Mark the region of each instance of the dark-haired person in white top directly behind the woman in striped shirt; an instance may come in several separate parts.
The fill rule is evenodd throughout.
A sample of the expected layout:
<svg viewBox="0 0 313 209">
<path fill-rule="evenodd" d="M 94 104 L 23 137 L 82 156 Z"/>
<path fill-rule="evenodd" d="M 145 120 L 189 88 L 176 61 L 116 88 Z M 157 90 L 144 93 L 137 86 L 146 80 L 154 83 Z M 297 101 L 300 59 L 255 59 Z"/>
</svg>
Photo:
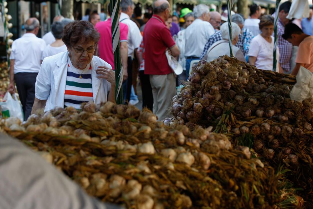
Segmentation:
<svg viewBox="0 0 313 209">
<path fill-rule="evenodd" d="M 51 32 L 55 38 L 55 41 L 52 44 L 48 44 L 44 49 L 41 60 L 44 58 L 56 55 L 60 52 L 67 51 L 66 45 L 62 41 L 62 34 L 64 29 L 64 23 L 62 22 L 54 22 L 51 26 Z"/>
</svg>

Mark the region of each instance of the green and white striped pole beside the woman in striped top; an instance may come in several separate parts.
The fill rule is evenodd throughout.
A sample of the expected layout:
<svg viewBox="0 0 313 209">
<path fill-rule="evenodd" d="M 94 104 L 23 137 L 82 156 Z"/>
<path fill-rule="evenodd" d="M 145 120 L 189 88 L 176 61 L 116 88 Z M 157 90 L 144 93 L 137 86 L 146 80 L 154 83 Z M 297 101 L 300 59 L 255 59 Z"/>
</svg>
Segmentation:
<svg viewBox="0 0 313 209">
<path fill-rule="evenodd" d="M 111 14 L 111 33 L 115 67 L 115 101 L 123 104 L 123 66 L 121 62 L 120 48 L 120 0 L 110 0 Z"/>
</svg>

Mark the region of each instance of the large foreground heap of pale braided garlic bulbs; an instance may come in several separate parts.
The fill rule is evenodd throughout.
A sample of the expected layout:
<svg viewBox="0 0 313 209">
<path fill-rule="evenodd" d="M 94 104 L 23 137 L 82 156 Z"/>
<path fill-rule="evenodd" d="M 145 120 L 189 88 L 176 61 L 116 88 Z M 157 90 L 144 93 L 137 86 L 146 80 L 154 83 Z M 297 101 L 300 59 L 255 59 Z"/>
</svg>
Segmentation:
<svg viewBox="0 0 313 209">
<path fill-rule="evenodd" d="M 301 206 L 274 169 L 212 127 L 156 122 L 150 111 L 107 102 L 1 120 L 90 195 L 126 208 Z M 293 160 L 290 156 L 290 162 Z"/>
</svg>

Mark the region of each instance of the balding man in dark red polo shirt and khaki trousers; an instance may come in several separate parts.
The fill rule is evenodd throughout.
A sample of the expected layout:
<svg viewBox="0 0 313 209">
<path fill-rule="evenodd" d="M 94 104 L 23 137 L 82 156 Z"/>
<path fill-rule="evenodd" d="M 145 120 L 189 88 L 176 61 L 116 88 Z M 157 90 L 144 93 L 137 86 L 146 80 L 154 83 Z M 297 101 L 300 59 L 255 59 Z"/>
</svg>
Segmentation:
<svg viewBox="0 0 313 209">
<path fill-rule="evenodd" d="M 145 74 L 150 75 L 153 113 L 159 121 L 167 117 L 172 98 L 176 95 L 175 74 L 168 65 L 165 55 L 165 52 L 169 50 L 174 57 L 179 56 L 179 49 L 165 24 L 171 16 L 169 7 L 167 0 L 154 2 L 154 14 L 143 31 Z"/>
</svg>

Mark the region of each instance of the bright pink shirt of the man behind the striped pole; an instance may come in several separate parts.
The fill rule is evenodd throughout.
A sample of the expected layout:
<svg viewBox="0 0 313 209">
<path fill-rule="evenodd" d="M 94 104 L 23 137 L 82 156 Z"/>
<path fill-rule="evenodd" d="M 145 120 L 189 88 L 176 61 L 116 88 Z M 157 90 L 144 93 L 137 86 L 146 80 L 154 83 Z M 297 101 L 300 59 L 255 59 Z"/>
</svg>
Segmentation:
<svg viewBox="0 0 313 209">
<path fill-rule="evenodd" d="M 111 18 L 96 24 L 95 29 L 100 33 L 98 43 L 99 56 L 109 63 L 114 70 L 114 55 L 112 46 Z M 127 41 L 128 26 L 120 22 L 120 41 Z"/>
</svg>

